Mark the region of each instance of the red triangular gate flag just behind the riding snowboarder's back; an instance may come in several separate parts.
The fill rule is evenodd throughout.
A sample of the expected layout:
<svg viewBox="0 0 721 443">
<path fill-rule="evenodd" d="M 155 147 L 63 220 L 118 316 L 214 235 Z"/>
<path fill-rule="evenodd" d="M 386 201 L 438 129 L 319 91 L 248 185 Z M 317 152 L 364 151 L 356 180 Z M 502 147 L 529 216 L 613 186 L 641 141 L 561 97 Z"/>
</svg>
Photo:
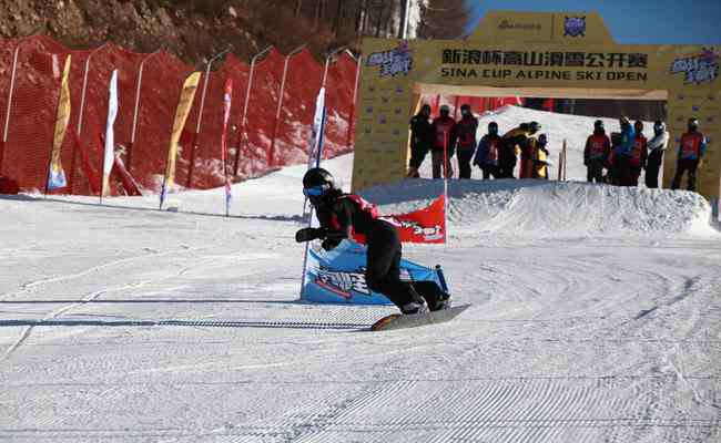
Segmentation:
<svg viewBox="0 0 721 443">
<path fill-rule="evenodd" d="M 446 243 L 446 196 L 444 194 L 423 209 L 380 218 L 396 226 L 402 243 Z M 354 234 L 353 237 L 358 243 L 365 243 L 364 235 Z"/>
</svg>

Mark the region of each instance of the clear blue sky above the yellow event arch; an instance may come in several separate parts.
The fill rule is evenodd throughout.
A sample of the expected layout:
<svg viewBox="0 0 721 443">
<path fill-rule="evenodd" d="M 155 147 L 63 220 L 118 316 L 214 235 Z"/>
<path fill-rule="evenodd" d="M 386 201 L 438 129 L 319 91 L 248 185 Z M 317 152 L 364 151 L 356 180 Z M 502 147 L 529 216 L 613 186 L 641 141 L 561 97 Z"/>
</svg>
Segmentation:
<svg viewBox="0 0 721 443">
<path fill-rule="evenodd" d="M 466 0 L 474 21 L 488 10 L 597 11 L 626 44 L 721 44 L 721 0 Z"/>
</svg>

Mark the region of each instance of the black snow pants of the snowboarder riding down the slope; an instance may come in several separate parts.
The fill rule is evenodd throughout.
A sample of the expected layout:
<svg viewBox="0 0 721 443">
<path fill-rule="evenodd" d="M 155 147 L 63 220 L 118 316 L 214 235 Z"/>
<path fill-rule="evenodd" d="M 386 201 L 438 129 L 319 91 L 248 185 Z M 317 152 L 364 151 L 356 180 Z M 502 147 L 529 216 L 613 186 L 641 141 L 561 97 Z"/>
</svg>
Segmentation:
<svg viewBox="0 0 721 443">
<path fill-rule="evenodd" d="M 376 220 L 366 236 L 368 246 L 366 285 L 386 296 L 398 308 L 424 298 L 433 309 L 443 291 L 434 281 L 400 280 L 400 238 L 396 228 L 385 220 Z"/>
</svg>

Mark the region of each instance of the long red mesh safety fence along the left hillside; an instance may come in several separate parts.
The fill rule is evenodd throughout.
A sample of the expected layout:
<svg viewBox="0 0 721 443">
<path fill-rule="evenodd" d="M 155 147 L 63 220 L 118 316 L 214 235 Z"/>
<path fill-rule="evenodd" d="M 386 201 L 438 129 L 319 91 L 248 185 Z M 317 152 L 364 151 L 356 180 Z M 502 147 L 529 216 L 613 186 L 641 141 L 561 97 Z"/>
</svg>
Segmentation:
<svg viewBox="0 0 721 443">
<path fill-rule="evenodd" d="M 224 183 L 221 131 L 223 86 L 229 78 L 233 80 L 229 172 L 244 179 L 307 159 L 315 99 L 325 71 L 307 50 L 291 56 L 271 50 L 255 64 L 248 89 L 251 66 L 233 55 L 206 71 L 207 64 L 189 66 L 164 52 L 140 54 L 111 43 L 71 51 L 35 35 L 0 41 L 0 176 L 16 179 L 23 190 L 44 188 L 68 55 L 72 55 L 72 112 L 61 151 L 69 181 L 63 193 L 99 193 L 108 83 L 115 69 L 120 103 L 115 152 L 144 190 L 160 190 L 181 86 L 195 70 L 203 74 L 181 136 L 179 185 L 210 188 Z M 327 66 L 327 157 L 353 150 L 348 122 L 355 112 L 357 66 L 347 52 Z M 122 194 L 119 177 L 111 178 L 112 194 Z"/>
</svg>

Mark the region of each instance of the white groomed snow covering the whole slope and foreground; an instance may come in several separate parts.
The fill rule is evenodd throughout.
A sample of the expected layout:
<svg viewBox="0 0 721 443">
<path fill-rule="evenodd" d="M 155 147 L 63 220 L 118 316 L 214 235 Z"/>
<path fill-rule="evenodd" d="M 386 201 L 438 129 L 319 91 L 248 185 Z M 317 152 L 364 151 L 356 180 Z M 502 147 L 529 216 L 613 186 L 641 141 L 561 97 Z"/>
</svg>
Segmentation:
<svg viewBox="0 0 721 443">
<path fill-rule="evenodd" d="M 352 163 L 324 166 L 349 184 Z M 0 197 L 1 440 L 721 439 L 721 235 L 698 195 L 454 181 L 449 243 L 404 255 L 474 306 L 370 333 L 393 308 L 297 301 L 304 169 L 235 185 L 231 218 L 222 188 L 173 195 L 179 213 Z M 392 213 L 441 189 L 364 195 Z"/>
</svg>

